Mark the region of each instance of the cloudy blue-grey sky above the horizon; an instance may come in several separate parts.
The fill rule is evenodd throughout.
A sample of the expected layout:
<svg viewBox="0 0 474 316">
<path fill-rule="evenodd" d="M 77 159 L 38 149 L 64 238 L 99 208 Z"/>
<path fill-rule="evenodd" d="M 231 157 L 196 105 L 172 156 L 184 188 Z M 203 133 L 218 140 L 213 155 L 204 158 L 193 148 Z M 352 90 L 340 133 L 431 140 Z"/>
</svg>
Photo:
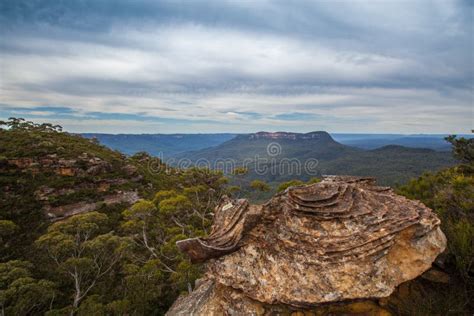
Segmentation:
<svg viewBox="0 0 474 316">
<path fill-rule="evenodd" d="M 474 1 L 0 2 L 0 118 L 469 133 Z"/>
</svg>

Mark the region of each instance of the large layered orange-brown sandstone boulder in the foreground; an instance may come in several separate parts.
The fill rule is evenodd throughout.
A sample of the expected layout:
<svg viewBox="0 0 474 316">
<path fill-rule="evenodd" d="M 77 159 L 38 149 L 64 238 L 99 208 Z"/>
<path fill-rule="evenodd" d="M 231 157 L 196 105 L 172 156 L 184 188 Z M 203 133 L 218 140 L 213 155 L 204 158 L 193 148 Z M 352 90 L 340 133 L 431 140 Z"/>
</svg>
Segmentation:
<svg viewBox="0 0 474 316">
<path fill-rule="evenodd" d="M 371 178 L 327 177 L 262 206 L 226 200 L 208 238 L 178 242 L 205 277 L 169 315 L 266 314 L 389 296 L 446 247 L 440 221 Z"/>
</svg>

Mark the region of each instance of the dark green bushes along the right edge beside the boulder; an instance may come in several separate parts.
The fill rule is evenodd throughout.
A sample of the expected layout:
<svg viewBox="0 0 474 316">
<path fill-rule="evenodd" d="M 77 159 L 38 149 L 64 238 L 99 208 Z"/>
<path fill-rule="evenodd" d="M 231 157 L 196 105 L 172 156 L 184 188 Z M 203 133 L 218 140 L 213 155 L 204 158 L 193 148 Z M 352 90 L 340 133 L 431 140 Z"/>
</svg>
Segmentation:
<svg viewBox="0 0 474 316">
<path fill-rule="evenodd" d="M 443 305 L 450 306 L 452 311 L 460 313 L 474 309 L 474 139 L 454 136 L 447 139 L 460 163 L 439 172 L 426 173 L 398 188 L 400 194 L 422 201 L 438 214 L 448 239 L 443 265 L 450 272 L 452 282 L 448 287 L 431 291 L 425 287 L 434 314 L 439 312 L 441 301 L 447 298 L 451 299 Z M 415 307 L 426 305 L 426 297 L 420 297 L 419 301 L 425 303 L 416 302 Z"/>
</svg>

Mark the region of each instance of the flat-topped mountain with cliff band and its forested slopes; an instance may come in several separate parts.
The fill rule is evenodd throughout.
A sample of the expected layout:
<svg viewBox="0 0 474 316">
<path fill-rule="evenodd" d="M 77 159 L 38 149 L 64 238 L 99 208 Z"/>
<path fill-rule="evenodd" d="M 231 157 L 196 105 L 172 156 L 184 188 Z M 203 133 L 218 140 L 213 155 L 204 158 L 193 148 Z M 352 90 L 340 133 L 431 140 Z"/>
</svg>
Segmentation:
<svg viewBox="0 0 474 316">
<path fill-rule="evenodd" d="M 388 145 L 364 150 L 335 141 L 326 132 L 238 135 L 218 146 L 177 155 L 203 166 L 228 171 L 230 164 L 249 169 L 249 180 L 278 183 L 323 174 L 374 176 L 380 184 L 403 183 L 425 171 L 454 163 L 448 151 Z M 299 171 L 297 170 L 299 164 Z"/>
</svg>

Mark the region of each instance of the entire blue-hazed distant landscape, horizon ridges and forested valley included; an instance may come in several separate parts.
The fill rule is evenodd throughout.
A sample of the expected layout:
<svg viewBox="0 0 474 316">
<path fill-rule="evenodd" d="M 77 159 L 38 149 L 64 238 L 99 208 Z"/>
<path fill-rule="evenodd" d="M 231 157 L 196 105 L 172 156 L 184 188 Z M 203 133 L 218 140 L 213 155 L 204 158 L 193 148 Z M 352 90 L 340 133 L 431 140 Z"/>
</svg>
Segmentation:
<svg viewBox="0 0 474 316">
<path fill-rule="evenodd" d="M 95 137 L 125 154 L 145 151 L 184 167 L 195 164 L 228 171 L 245 164 L 250 170 L 248 181 L 262 179 L 270 183 L 348 174 L 375 176 L 381 184 L 394 185 L 454 164 L 449 144 L 444 140 L 446 135 L 330 135 L 323 131 L 82 135 Z M 311 172 L 304 166 L 308 162 L 313 164 Z M 295 171 L 297 163 L 299 172 Z"/>
</svg>

